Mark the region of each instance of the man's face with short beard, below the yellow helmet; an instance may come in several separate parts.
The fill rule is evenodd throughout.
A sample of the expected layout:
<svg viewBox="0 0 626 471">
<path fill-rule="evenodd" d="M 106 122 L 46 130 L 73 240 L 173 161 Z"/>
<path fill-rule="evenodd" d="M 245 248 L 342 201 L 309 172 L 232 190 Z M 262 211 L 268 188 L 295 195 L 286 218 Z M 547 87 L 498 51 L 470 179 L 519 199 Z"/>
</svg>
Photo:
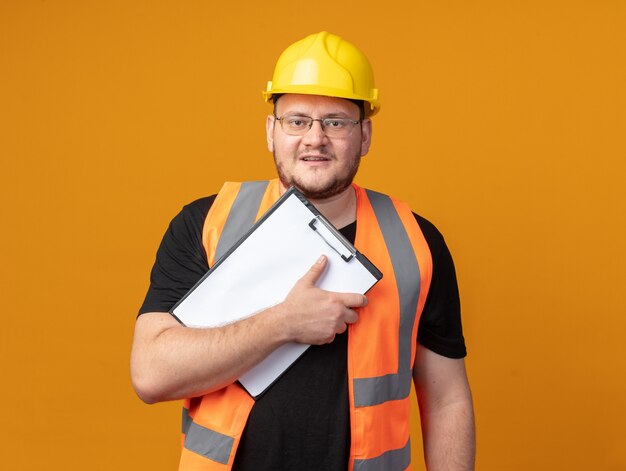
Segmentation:
<svg viewBox="0 0 626 471">
<path fill-rule="evenodd" d="M 300 115 L 312 118 L 359 119 L 359 107 L 342 98 L 318 95 L 280 97 L 276 116 Z M 329 138 L 321 123 L 303 136 L 283 132 L 274 116 L 267 117 L 267 145 L 274 154 L 278 177 L 284 189 L 295 186 L 307 198 L 327 199 L 346 191 L 359 168 L 361 157 L 367 154 L 372 135 L 369 119 L 363 120 L 345 138 Z"/>
</svg>

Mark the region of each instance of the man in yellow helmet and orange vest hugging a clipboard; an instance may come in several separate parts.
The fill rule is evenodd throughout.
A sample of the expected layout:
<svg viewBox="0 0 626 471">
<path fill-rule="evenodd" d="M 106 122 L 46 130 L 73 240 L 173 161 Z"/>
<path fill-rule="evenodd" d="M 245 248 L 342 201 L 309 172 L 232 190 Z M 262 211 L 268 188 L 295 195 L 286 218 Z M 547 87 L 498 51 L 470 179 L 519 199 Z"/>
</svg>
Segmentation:
<svg viewBox="0 0 626 471">
<path fill-rule="evenodd" d="M 281 55 L 265 98 L 279 178 L 225 185 L 172 221 L 136 323 L 138 395 L 185 399 L 182 470 L 387 471 L 410 466 L 413 381 L 428 469 L 473 469 L 458 289 L 443 237 L 403 203 L 352 184 L 379 109 L 369 62 L 338 36 L 308 36 Z M 292 185 L 383 279 L 367 296 L 322 291 L 321 257 L 277 306 L 220 328 L 181 326 L 168 311 L 214 263 L 229 216 L 244 204 L 262 214 Z M 236 379 L 286 342 L 312 346 L 253 400 Z"/>
</svg>

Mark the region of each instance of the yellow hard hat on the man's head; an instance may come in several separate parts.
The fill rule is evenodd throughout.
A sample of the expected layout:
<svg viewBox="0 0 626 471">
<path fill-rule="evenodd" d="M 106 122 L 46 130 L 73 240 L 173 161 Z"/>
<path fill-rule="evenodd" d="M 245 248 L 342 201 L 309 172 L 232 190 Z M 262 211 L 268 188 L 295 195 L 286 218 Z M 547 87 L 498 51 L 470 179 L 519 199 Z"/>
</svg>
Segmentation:
<svg viewBox="0 0 626 471">
<path fill-rule="evenodd" d="M 367 57 L 353 44 L 326 31 L 293 43 L 280 55 L 263 97 L 270 101 L 283 93 L 363 100 L 369 103 L 367 116 L 380 109 Z"/>
</svg>

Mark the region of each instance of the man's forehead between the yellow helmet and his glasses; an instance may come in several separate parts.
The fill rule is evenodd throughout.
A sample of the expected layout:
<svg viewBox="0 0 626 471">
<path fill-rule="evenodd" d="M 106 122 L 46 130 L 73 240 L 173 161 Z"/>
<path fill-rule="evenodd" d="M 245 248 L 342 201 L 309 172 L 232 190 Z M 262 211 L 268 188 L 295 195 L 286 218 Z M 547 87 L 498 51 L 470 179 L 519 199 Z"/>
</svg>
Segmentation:
<svg viewBox="0 0 626 471">
<path fill-rule="evenodd" d="M 301 113 L 307 116 L 345 114 L 358 119 L 359 107 L 344 98 L 321 95 L 286 94 L 276 102 L 276 114 Z"/>
</svg>

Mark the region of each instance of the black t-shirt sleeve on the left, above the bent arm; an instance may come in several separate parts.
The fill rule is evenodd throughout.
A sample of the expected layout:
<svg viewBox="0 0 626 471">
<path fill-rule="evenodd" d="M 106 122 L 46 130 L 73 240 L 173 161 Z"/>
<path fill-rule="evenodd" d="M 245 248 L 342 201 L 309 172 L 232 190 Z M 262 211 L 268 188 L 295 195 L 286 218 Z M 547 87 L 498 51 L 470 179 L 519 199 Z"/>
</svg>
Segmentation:
<svg viewBox="0 0 626 471">
<path fill-rule="evenodd" d="M 214 200 L 215 195 L 188 204 L 170 223 L 157 251 L 140 315 L 169 312 L 208 271 L 202 227 Z"/>
</svg>

